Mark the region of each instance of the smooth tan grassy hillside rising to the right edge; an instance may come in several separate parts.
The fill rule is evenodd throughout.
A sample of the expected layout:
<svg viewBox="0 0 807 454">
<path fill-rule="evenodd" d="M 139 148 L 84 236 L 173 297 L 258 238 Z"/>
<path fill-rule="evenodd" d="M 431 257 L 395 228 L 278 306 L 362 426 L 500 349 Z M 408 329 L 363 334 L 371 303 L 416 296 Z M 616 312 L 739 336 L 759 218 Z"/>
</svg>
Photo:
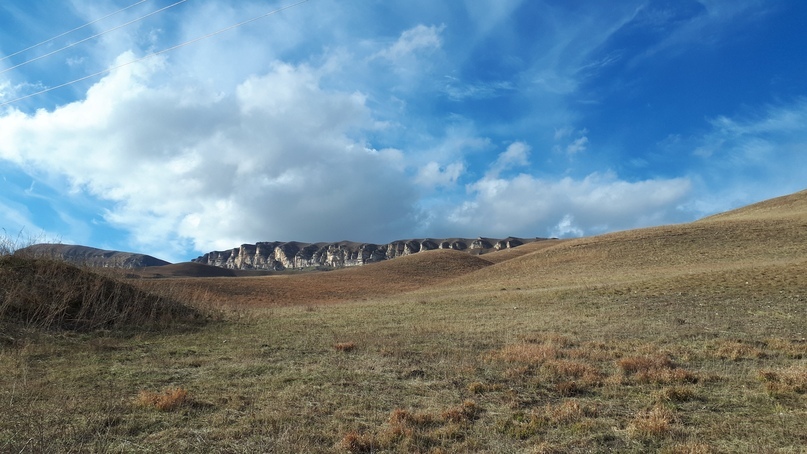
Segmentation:
<svg viewBox="0 0 807 454">
<path fill-rule="evenodd" d="M 803 191 L 693 223 L 541 244 L 546 247 L 479 271 L 469 279 L 472 282 L 456 285 L 641 286 L 660 278 L 794 265 L 807 260 L 805 222 Z"/>
</svg>

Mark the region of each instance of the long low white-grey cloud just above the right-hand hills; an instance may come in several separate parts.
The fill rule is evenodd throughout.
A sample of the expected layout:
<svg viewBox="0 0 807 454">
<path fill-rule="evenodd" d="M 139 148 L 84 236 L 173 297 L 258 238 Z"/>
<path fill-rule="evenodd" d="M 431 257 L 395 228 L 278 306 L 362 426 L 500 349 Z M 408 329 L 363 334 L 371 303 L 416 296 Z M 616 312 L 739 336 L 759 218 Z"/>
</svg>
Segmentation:
<svg viewBox="0 0 807 454">
<path fill-rule="evenodd" d="M 468 186 L 472 199 L 450 212 L 446 231 L 491 236 L 580 236 L 687 219 L 686 178 L 628 182 L 613 173 L 583 179 L 485 177 Z M 481 233 L 480 233 L 481 232 Z"/>
</svg>

